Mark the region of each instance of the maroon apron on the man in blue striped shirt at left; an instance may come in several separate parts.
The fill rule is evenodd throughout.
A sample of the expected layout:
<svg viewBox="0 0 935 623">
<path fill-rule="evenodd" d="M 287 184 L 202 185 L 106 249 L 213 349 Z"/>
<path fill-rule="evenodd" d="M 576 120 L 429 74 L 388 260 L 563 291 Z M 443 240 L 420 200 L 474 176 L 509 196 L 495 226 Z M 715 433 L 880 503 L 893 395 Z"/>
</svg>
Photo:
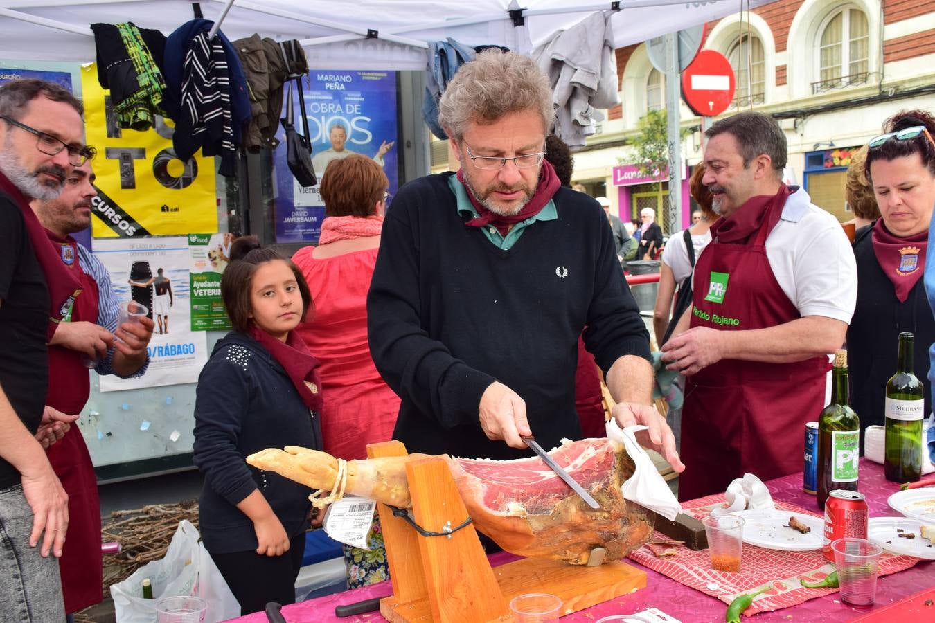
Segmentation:
<svg viewBox="0 0 935 623">
<path fill-rule="evenodd" d="M 84 289 L 75 299 L 71 320 L 96 322 L 97 284 L 79 268 L 78 244 L 49 234 L 62 261 L 76 271 Z M 69 250 L 70 249 L 70 250 Z M 88 402 L 91 379 L 81 364 L 82 353 L 65 347 L 49 347 L 49 393 L 46 404 L 67 414 L 80 413 Z M 76 421 L 65 437 L 49 448 L 49 461 L 68 494 L 68 534 L 59 570 L 65 596 L 65 612 L 75 613 L 101 602 L 101 506 L 97 480 L 88 446 Z"/>
</svg>

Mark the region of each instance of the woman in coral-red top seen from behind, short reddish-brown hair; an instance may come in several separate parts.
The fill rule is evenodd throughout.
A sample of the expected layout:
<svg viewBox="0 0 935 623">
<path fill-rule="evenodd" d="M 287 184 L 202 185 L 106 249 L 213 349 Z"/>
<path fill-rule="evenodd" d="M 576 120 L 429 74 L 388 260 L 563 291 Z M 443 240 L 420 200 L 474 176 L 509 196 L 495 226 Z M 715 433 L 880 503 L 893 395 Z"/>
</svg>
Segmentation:
<svg viewBox="0 0 935 623">
<path fill-rule="evenodd" d="M 388 186 L 370 158 L 332 161 L 322 177 L 319 245 L 293 256 L 315 300 L 315 317 L 297 332 L 322 362 L 324 451 L 344 460 L 367 459 L 367 444 L 389 441 L 399 412 L 399 397 L 383 382 L 367 344 L 367 290 Z M 367 545 L 369 550 L 344 546 L 349 588 L 387 579 L 379 526 L 367 535 Z"/>
</svg>

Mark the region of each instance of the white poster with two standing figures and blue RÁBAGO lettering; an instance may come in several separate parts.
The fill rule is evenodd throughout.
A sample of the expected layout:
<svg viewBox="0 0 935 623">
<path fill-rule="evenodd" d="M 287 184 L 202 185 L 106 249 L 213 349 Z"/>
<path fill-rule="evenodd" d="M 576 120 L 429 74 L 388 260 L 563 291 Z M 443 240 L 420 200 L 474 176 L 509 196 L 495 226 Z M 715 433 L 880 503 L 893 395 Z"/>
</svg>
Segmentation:
<svg viewBox="0 0 935 623">
<path fill-rule="evenodd" d="M 208 339 L 193 332 L 189 293 L 188 238 L 129 238 L 94 241 L 121 305 L 144 304 L 156 323 L 150 367 L 139 378 L 101 376 L 101 391 L 194 383 L 208 361 Z"/>
</svg>

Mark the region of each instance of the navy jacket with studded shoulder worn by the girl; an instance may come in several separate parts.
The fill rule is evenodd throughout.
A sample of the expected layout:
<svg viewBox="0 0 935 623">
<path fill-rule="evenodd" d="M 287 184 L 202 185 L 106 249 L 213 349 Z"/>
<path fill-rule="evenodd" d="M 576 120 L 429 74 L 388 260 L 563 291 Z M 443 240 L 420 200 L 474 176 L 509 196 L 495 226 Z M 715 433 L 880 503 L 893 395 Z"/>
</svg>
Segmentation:
<svg viewBox="0 0 935 623">
<path fill-rule="evenodd" d="M 266 348 L 243 333 L 228 333 L 198 377 L 194 404 L 194 464 L 205 474 L 198 520 L 209 552 L 256 549 L 253 523 L 237 503 L 257 488 L 290 539 L 309 528 L 311 490 L 244 460 L 283 446 L 321 449 L 319 419 Z"/>
</svg>

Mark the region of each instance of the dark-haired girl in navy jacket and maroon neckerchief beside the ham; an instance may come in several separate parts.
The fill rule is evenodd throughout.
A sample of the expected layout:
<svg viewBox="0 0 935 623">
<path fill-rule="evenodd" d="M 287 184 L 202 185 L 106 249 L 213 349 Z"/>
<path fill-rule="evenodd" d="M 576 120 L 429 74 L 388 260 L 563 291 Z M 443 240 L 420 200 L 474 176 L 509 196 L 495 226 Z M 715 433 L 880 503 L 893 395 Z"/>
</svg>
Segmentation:
<svg viewBox="0 0 935 623">
<path fill-rule="evenodd" d="M 234 331 L 198 378 L 194 463 L 205 474 L 202 540 L 247 615 L 295 602 L 311 491 L 244 459 L 266 447 L 320 449 L 321 384 L 293 332 L 312 309 L 302 272 L 255 238 L 235 241 L 231 258 L 221 294 Z"/>
</svg>

